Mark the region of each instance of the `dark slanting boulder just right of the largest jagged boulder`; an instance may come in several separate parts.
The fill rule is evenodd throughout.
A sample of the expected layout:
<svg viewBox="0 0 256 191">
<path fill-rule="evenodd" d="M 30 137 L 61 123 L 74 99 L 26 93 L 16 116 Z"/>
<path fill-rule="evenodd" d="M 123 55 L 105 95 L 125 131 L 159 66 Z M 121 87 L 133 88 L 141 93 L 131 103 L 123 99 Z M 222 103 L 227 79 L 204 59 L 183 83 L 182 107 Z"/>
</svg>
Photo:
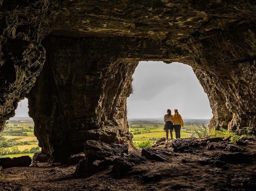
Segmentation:
<svg viewBox="0 0 256 191">
<path fill-rule="evenodd" d="M 117 158 L 114 161 L 114 166 L 112 168 L 112 173 L 115 177 L 120 178 L 124 176 L 127 172 L 132 170 L 132 167 L 136 164 L 145 162 L 146 158 L 139 156 L 138 154 L 124 155 Z"/>
</svg>

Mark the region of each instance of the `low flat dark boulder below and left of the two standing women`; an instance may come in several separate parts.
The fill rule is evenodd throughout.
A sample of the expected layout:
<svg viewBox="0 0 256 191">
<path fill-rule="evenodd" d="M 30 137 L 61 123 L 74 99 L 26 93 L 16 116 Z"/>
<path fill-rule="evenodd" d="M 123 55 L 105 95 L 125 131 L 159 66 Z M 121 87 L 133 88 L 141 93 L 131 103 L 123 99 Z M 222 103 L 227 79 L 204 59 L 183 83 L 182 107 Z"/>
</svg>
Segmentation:
<svg viewBox="0 0 256 191">
<path fill-rule="evenodd" d="M 170 161 L 172 152 L 166 149 L 145 148 L 142 149 L 141 156 L 144 156 L 145 158 L 150 160 Z"/>
</svg>

